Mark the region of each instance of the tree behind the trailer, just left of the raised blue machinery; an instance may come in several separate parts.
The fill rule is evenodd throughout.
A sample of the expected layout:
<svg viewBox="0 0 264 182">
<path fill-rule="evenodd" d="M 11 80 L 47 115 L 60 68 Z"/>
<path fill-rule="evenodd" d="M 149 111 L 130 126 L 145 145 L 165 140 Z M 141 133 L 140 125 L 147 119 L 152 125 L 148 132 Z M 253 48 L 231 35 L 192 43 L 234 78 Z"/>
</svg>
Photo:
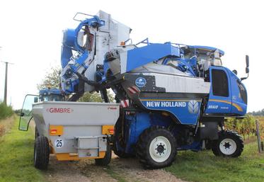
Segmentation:
<svg viewBox="0 0 264 182">
<path fill-rule="evenodd" d="M 59 67 L 52 67 L 49 72 L 46 73 L 45 79 L 37 85 L 38 90 L 50 88 L 59 88 L 60 78 L 59 75 L 61 69 Z"/>
</svg>

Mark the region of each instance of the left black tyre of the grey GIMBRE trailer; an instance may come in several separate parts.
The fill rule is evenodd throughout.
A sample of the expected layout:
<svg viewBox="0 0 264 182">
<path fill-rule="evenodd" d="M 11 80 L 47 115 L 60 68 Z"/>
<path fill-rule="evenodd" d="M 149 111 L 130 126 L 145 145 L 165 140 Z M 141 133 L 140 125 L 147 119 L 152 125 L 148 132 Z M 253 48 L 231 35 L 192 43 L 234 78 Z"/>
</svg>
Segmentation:
<svg viewBox="0 0 264 182">
<path fill-rule="evenodd" d="M 47 137 L 39 136 L 35 139 L 34 166 L 37 169 L 47 169 L 50 159 L 50 145 Z"/>
</svg>

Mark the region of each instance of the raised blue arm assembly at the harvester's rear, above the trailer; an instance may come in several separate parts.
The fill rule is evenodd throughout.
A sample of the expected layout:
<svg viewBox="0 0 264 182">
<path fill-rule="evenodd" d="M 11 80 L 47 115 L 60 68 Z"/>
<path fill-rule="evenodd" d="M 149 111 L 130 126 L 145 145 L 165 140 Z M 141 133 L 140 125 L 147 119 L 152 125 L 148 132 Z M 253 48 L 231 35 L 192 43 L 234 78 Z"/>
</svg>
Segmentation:
<svg viewBox="0 0 264 182">
<path fill-rule="evenodd" d="M 96 35 L 90 29 L 96 29 L 105 24 L 98 16 L 84 13 L 76 13 L 76 16 L 78 14 L 89 16 L 89 18 L 80 21 L 76 29 L 65 30 L 62 41 L 62 90 L 66 93 L 76 92 L 80 79 L 84 79 L 83 74 L 88 68 L 88 62 L 93 59 L 93 42 Z M 79 21 L 76 16 L 74 20 Z"/>
</svg>

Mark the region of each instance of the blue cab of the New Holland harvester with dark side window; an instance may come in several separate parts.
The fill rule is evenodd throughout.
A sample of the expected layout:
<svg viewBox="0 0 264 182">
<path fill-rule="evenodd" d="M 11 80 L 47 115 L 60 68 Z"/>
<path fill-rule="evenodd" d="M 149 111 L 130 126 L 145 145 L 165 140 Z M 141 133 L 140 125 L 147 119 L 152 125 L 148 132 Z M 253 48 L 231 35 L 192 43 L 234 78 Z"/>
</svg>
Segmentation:
<svg viewBox="0 0 264 182">
<path fill-rule="evenodd" d="M 209 72 L 211 89 L 205 115 L 245 115 L 247 93 L 241 79 L 226 67 L 213 66 Z"/>
</svg>

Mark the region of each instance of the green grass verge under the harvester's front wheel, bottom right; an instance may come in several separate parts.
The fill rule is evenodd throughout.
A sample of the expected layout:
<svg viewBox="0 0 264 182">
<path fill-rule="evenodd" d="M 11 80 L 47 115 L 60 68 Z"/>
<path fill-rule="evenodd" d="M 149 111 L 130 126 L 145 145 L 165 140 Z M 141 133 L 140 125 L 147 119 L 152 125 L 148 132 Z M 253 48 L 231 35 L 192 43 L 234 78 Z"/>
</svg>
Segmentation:
<svg viewBox="0 0 264 182">
<path fill-rule="evenodd" d="M 166 171 L 186 181 L 251 181 L 264 179 L 264 154 L 256 142 L 246 144 L 239 158 L 215 157 L 211 151 L 178 152 Z"/>
</svg>

